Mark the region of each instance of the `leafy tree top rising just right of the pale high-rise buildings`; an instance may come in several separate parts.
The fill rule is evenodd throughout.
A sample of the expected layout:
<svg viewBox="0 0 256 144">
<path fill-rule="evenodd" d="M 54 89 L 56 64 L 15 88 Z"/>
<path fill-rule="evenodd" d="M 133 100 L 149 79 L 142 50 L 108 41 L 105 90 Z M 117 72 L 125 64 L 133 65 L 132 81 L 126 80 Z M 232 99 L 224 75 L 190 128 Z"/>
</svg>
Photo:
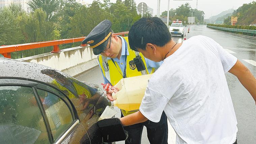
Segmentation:
<svg viewBox="0 0 256 144">
<path fill-rule="evenodd" d="M 60 0 L 31 0 L 28 2 L 28 5 L 33 11 L 42 8 L 46 12 L 47 21 L 49 21 L 58 9 Z"/>
</svg>

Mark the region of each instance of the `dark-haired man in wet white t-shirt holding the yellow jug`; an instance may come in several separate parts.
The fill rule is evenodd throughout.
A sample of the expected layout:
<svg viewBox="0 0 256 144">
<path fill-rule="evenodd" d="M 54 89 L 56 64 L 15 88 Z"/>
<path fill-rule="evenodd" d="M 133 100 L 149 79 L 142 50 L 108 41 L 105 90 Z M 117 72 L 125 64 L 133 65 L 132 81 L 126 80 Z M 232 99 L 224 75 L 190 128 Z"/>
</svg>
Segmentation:
<svg viewBox="0 0 256 144">
<path fill-rule="evenodd" d="M 177 144 L 233 144 L 237 121 L 225 73 L 235 75 L 256 100 L 256 79 L 213 39 L 198 35 L 177 44 L 159 18 L 142 18 L 129 32 L 131 49 L 155 62 L 140 111 L 121 118 L 123 125 L 158 122 L 163 111 Z"/>
</svg>

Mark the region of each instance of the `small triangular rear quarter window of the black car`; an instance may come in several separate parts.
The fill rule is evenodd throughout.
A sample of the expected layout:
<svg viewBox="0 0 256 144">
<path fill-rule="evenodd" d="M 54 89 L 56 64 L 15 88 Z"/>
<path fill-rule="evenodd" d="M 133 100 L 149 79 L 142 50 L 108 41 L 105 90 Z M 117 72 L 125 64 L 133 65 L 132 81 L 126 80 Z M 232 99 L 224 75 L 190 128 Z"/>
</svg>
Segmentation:
<svg viewBox="0 0 256 144">
<path fill-rule="evenodd" d="M 37 89 L 41 102 L 44 106 L 54 140 L 73 122 L 71 112 L 67 105 L 58 96 Z"/>
</svg>

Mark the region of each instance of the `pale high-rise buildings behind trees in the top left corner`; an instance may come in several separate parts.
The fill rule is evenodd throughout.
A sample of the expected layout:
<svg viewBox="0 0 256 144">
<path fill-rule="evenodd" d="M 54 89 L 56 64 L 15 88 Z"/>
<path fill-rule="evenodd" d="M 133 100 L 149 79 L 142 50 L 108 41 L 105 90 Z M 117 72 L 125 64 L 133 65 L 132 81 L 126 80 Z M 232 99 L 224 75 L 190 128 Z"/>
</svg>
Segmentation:
<svg viewBox="0 0 256 144">
<path fill-rule="evenodd" d="M 8 7 L 10 4 L 17 4 L 21 5 L 21 8 L 26 11 L 30 12 L 30 8 L 28 6 L 29 0 L 0 0 L 0 8 Z"/>
</svg>

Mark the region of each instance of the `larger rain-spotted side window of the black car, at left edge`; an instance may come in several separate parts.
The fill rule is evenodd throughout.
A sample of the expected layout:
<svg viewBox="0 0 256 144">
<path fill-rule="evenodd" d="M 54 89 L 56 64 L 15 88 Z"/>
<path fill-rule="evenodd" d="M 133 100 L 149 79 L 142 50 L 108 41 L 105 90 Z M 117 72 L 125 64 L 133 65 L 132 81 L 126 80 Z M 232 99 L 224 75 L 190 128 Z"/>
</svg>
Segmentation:
<svg viewBox="0 0 256 144">
<path fill-rule="evenodd" d="M 31 87 L 0 86 L 0 143 L 50 143 Z"/>
</svg>

